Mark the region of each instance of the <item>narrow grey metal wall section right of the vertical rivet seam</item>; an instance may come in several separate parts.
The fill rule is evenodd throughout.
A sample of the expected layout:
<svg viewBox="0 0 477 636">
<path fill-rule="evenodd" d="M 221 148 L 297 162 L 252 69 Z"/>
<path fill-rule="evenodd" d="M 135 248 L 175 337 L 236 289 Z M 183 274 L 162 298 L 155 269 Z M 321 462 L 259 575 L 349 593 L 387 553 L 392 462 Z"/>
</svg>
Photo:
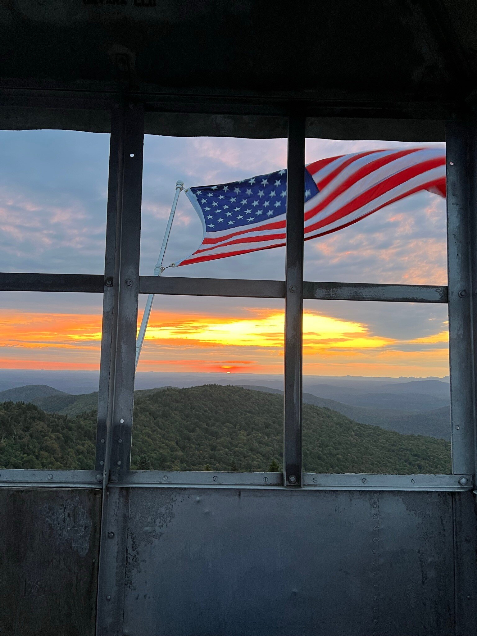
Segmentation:
<svg viewBox="0 0 477 636">
<path fill-rule="evenodd" d="M 443 492 L 376 497 L 379 636 L 454 633 L 452 497 Z"/>
</svg>

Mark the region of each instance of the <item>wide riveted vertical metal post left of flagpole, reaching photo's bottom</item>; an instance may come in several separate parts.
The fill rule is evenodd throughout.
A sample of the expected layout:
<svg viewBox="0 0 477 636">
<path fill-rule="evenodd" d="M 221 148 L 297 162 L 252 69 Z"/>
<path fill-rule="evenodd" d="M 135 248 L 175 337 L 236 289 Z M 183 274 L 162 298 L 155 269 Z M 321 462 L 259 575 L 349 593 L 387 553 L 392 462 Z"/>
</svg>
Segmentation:
<svg viewBox="0 0 477 636">
<path fill-rule="evenodd" d="M 144 107 L 113 111 L 109 165 L 106 283 L 99 391 L 99 456 L 104 480 L 99 555 L 97 635 L 122 633 L 128 489 L 109 488 L 130 464 L 139 294 Z M 107 340 L 109 338 L 109 340 Z M 105 439 L 105 450 L 101 450 Z"/>
</svg>

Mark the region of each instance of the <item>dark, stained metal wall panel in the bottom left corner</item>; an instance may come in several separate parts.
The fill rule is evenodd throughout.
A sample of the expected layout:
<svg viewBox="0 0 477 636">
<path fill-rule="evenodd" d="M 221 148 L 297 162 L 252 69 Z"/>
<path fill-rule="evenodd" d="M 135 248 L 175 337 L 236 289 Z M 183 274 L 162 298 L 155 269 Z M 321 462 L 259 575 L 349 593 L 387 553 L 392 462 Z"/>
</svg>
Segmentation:
<svg viewBox="0 0 477 636">
<path fill-rule="evenodd" d="M 93 636 L 101 492 L 0 488 L 0 634 Z"/>
</svg>

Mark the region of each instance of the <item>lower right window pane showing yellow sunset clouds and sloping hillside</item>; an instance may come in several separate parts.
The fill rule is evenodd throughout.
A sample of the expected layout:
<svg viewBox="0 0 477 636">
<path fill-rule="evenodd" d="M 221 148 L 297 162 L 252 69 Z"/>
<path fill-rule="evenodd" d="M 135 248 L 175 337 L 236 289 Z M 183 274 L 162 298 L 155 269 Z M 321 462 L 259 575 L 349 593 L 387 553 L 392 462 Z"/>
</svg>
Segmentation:
<svg viewBox="0 0 477 636">
<path fill-rule="evenodd" d="M 305 301 L 303 463 L 450 473 L 446 305 Z"/>
</svg>

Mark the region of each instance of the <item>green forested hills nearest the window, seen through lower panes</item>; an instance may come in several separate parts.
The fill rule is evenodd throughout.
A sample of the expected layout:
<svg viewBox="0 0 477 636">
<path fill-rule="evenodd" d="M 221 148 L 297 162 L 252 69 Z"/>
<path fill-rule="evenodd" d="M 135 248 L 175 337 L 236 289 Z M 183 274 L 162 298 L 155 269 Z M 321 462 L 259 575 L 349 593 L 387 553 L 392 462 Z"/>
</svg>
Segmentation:
<svg viewBox="0 0 477 636">
<path fill-rule="evenodd" d="M 282 417 L 282 397 L 241 387 L 145 392 L 135 402 L 132 467 L 277 469 Z M 95 423 L 95 411 L 70 418 L 33 404 L 1 403 L 0 468 L 92 468 Z M 304 404 L 303 460 L 312 472 L 448 473 L 450 445 Z"/>
</svg>

